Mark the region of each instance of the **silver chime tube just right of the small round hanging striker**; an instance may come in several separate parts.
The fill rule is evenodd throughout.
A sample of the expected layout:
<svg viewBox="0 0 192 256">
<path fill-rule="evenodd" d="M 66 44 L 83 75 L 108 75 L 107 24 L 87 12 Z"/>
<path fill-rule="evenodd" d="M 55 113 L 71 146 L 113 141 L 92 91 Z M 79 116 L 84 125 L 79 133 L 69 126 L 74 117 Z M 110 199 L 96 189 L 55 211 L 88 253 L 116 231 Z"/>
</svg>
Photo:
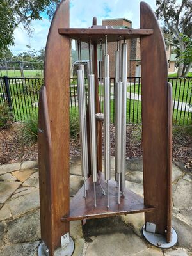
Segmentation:
<svg viewBox="0 0 192 256">
<path fill-rule="evenodd" d="M 107 197 L 109 208 L 109 180 L 111 179 L 111 156 L 110 156 L 110 78 L 109 78 L 109 55 L 107 50 L 107 36 L 104 56 L 104 166 L 105 179 L 107 180 Z"/>
</svg>

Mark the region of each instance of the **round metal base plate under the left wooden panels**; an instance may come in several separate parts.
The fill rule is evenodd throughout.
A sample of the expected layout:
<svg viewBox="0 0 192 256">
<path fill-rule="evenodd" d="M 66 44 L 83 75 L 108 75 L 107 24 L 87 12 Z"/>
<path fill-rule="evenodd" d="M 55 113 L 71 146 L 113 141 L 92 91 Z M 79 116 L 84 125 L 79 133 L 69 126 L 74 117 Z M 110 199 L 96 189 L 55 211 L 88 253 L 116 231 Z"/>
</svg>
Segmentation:
<svg viewBox="0 0 192 256">
<path fill-rule="evenodd" d="M 74 241 L 71 237 L 69 237 L 69 243 L 63 247 L 58 248 L 54 252 L 54 256 L 71 256 L 73 252 Z M 42 243 L 40 243 L 40 246 L 38 247 L 38 256 L 49 256 L 49 252 L 45 252 L 45 250 L 43 250 Z"/>
</svg>

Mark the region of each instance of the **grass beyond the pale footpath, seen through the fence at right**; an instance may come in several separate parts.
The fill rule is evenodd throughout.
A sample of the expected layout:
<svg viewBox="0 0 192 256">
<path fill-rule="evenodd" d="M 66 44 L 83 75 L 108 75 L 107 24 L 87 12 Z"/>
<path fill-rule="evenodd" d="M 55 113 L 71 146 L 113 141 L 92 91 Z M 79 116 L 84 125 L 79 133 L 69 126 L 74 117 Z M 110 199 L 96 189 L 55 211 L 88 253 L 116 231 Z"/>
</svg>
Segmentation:
<svg viewBox="0 0 192 256">
<path fill-rule="evenodd" d="M 172 83 L 173 86 L 173 100 L 187 103 L 192 101 L 192 77 L 191 79 L 169 78 L 168 81 Z M 141 94 L 141 84 L 131 84 L 127 86 L 127 92 Z"/>
</svg>

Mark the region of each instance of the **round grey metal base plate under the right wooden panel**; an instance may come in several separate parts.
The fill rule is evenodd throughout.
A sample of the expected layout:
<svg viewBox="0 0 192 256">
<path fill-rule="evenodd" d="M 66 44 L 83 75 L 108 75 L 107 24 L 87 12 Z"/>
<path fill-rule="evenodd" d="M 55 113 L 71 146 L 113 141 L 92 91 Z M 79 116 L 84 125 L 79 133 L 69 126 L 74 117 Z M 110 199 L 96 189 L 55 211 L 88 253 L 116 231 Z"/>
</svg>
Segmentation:
<svg viewBox="0 0 192 256">
<path fill-rule="evenodd" d="M 170 243 L 167 243 L 166 237 L 161 234 L 147 232 L 145 230 L 145 225 L 143 225 L 143 236 L 145 237 L 145 239 L 147 239 L 149 243 L 159 248 L 170 248 L 177 243 L 177 233 L 173 228 L 172 228 L 172 241 Z"/>
</svg>

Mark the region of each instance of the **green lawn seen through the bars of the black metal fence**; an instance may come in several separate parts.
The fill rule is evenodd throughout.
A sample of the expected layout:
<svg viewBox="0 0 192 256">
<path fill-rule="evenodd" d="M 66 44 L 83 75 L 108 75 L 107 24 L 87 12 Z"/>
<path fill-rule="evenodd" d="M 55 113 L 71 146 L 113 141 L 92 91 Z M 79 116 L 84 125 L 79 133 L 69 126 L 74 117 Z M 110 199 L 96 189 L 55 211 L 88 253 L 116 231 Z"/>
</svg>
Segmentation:
<svg viewBox="0 0 192 256">
<path fill-rule="evenodd" d="M 38 81 L 37 81 L 38 80 Z M 42 80 L 37 79 L 36 84 L 35 79 L 10 79 L 10 92 L 12 95 L 12 108 L 13 115 L 16 121 L 25 121 L 28 120 L 29 116 L 33 116 L 38 112 L 38 93 L 40 86 L 42 85 Z M 190 93 L 192 90 L 192 78 L 188 80 L 178 79 L 177 83 L 173 80 L 173 100 L 180 100 L 183 102 L 190 102 Z M 189 83 L 188 83 L 189 81 Z M 71 86 L 71 95 L 74 96 L 76 92 L 76 81 L 74 81 L 74 86 Z M 171 81 L 172 82 L 172 81 Z M 111 86 L 111 92 L 113 92 L 113 86 Z M 4 92 L 0 93 L 4 94 Z M 131 86 L 128 86 L 127 92 L 132 92 L 136 94 L 141 94 L 141 84 L 132 83 Z M 87 93 L 87 92 L 86 92 Z M 112 94 L 112 93 L 111 93 Z M 104 87 L 99 84 L 99 96 L 102 106 L 103 98 L 101 95 L 104 95 Z M 192 96 L 192 95 L 191 95 Z M 76 97 L 77 98 L 77 97 Z M 74 98 L 72 97 L 72 100 Z M 137 100 L 127 99 L 127 124 L 141 124 L 141 102 Z M 3 97 L 0 97 L 0 104 L 3 101 Z M 191 99 L 192 102 L 192 99 Z M 173 112 L 173 124 L 191 124 L 191 113 L 188 113 L 188 108 L 186 112 L 177 111 L 174 109 Z M 70 108 L 70 113 L 77 112 L 77 107 L 74 106 Z M 111 123 L 114 123 L 114 113 L 115 113 L 115 100 L 111 99 Z"/>
</svg>

